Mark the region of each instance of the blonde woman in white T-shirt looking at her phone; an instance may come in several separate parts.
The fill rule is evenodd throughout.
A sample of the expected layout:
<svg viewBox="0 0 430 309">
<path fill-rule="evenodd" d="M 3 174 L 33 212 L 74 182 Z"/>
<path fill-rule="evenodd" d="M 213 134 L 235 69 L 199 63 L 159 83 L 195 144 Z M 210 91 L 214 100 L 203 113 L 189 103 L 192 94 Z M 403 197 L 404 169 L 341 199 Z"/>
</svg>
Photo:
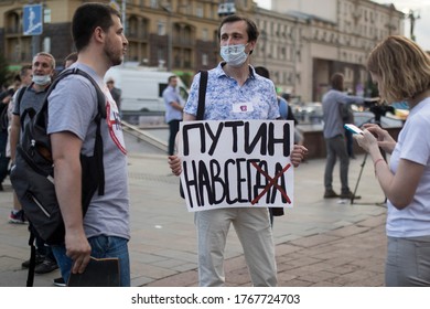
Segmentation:
<svg viewBox="0 0 430 309">
<path fill-rule="evenodd" d="M 410 107 L 397 142 L 375 125 L 355 135 L 388 199 L 386 286 L 430 286 L 430 58 L 393 35 L 372 51 L 367 68 L 383 99 Z M 379 147 L 391 153 L 389 164 Z"/>
</svg>

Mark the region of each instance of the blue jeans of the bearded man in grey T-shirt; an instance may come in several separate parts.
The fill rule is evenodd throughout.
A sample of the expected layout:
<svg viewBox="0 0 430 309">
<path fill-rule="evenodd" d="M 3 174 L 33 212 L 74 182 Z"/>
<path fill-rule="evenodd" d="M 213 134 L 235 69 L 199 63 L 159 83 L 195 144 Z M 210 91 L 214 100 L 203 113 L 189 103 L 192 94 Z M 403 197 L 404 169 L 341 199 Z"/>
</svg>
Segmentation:
<svg viewBox="0 0 430 309">
<path fill-rule="evenodd" d="M 119 276 L 121 287 L 130 286 L 130 258 L 128 254 L 128 239 L 115 236 L 95 236 L 88 238 L 92 246 L 92 256 L 95 258 L 118 257 Z M 66 256 L 65 245 L 52 246 L 52 251 L 58 263 L 64 281 L 68 281 L 73 260 Z"/>
</svg>

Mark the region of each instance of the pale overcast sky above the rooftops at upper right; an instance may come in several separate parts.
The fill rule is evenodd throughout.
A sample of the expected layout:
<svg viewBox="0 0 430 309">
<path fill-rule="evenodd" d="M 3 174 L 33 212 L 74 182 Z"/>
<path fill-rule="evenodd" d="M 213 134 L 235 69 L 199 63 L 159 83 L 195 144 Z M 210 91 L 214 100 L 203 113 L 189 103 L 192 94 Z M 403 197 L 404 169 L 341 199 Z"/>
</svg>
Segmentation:
<svg viewBox="0 0 430 309">
<path fill-rule="evenodd" d="M 270 9 L 270 0 L 254 0 L 260 7 Z M 396 9 L 409 14 L 409 10 L 415 11 L 415 36 L 417 43 L 421 45 L 426 51 L 430 51 L 430 0 L 373 0 L 378 3 L 394 3 Z M 405 21 L 405 34 L 410 36 L 410 22 L 409 19 Z"/>
</svg>

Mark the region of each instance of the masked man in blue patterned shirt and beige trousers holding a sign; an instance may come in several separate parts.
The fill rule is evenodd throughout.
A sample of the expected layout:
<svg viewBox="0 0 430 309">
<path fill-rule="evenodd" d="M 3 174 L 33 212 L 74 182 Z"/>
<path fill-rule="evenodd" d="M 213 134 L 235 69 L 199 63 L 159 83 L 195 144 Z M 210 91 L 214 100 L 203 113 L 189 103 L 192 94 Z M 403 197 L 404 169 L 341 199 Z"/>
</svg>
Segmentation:
<svg viewBox="0 0 430 309">
<path fill-rule="evenodd" d="M 246 120 L 279 118 L 273 83 L 255 74 L 254 67 L 249 65 L 249 55 L 256 47 L 259 34 L 256 24 L 247 18 L 229 15 L 222 21 L 218 34 L 224 62 L 208 72 L 204 120 L 237 120 L 235 125 L 237 127 L 233 130 L 237 132 L 246 128 Z M 196 120 L 200 77 L 201 74 L 197 74 L 191 86 L 190 97 L 184 108 L 183 126 L 186 121 Z M 289 130 L 288 126 L 287 124 L 286 131 Z M 270 125 L 267 128 L 269 127 Z M 208 136 L 212 141 L 223 131 L 221 126 L 218 129 L 211 129 L 209 124 L 201 127 L 200 131 L 202 132 L 204 128 L 211 131 Z M 289 141 L 288 143 L 290 145 Z M 290 147 L 287 149 L 290 150 Z M 293 146 L 289 156 L 292 166 L 299 166 L 307 151 L 303 146 Z M 170 156 L 169 163 L 175 175 L 182 173 L 182 161 L 179 156 Z M 243 245 L 254 286 L 277 286 L 275 244 L 269 212 L 267 206 L 251 207 L 252 204 L 211 207 L 195 212 L 200 286 L 225 284 L 224 249 L 232 223 Z"/>
</svg>

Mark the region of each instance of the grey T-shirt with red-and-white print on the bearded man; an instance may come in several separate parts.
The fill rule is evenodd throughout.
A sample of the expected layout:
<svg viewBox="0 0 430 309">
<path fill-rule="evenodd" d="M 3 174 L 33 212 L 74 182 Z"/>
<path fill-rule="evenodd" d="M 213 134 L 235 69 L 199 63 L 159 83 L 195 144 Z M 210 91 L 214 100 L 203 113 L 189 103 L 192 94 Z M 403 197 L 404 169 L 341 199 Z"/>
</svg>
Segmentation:
<svg viewBox="0 0 430 309">
<path fill-rule="evenodd" d="M 71 67 L 88 73 L 106 95 L 106 119 L 101 119 L 105 166 L 105 195 L 94 194 L 84 217 L 87 237 L 106 235 L 130 237 L 127 154 L 119 113 L 104 81 L 88 66 Z M 49 98 L 47 132 L 69 131 L 83 140 L 82 152 L 94 153 L 97 115 L 97 93 L 84 76 L 69 75 L 60 81 Z"/>
</svg>

